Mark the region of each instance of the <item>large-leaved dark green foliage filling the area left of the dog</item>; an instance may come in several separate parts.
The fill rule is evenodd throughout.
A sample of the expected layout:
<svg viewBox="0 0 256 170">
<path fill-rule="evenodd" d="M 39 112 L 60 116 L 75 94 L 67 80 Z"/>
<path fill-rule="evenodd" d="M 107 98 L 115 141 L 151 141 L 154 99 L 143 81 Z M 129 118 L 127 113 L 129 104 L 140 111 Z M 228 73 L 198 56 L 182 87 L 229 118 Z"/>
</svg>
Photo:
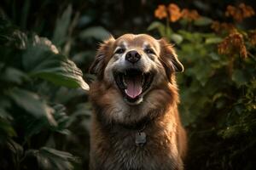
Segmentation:
<svg viewBox="0 0 256 170">
<path fill-rule="evenodd" d="M 55 85 L 84 94 L 82 71 L 47 38 L 20 31 L 3 16 L 0 23 L 1 169 L 73 169 L 79 160 L 57 147 L 55 136 L 70 138 L 76 115 L 55 101 Z"/>
</svg>

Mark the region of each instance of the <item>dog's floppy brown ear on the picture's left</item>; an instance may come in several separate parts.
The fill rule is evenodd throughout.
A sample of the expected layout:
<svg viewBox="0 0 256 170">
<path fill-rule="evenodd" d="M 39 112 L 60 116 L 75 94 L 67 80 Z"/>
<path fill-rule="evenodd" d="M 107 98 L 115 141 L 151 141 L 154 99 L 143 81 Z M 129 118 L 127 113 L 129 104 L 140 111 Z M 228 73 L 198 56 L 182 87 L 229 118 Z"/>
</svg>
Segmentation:
<svg viewBox="0 0 256 170">
<path fill-rule="evenodd" d="M 110 48 L 112 47 L 113 42 L 114 38 L 111 36 L 100 44 L 100 47 L 96 52 L 96 58 L 90 65 L 90 74 L 95 74 L 98 78 L 103 77 L 104 69 L 107 64 L 106 58 L 108 57 L 108 53 L 110 51 Z"/>
</svg>

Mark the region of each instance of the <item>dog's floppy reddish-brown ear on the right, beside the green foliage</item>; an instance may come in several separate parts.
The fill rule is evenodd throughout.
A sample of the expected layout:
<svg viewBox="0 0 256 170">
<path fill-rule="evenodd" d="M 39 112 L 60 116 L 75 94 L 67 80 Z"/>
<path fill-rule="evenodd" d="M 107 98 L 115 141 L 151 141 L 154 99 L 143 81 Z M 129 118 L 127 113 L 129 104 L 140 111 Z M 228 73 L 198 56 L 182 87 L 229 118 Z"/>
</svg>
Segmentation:
<svg viewBox="0 0 256 170">
<path fill-rule="evenodd" d="M 177 59 L 177 54 L 173 48 L 173 45 L 166 41 L 166 39 L 160 39 L 160 62 L 165 67 L 166 76 L 168 80 L 171 80 L 173 72 L 182 72 L 184 70 L 183 65 Z"/>
</svg>

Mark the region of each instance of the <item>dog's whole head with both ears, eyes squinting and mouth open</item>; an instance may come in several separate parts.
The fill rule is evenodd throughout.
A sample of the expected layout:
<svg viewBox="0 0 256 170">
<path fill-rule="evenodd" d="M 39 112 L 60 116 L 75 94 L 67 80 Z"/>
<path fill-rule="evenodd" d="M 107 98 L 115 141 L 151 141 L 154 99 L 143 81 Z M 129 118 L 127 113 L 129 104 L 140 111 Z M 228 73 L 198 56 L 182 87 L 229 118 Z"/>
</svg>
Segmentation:
<svg viewBox="0 0 256 170">
<path fill-rule="evenodd" d="M 162 82 L 172 83 L 174 71 L 183 71 L 183 65 L 172 45 L 145 34 L 109 38 L 90 68 L 98 79 L 116 88 L 127 105 L 141 104 Z"/>
</svg>

